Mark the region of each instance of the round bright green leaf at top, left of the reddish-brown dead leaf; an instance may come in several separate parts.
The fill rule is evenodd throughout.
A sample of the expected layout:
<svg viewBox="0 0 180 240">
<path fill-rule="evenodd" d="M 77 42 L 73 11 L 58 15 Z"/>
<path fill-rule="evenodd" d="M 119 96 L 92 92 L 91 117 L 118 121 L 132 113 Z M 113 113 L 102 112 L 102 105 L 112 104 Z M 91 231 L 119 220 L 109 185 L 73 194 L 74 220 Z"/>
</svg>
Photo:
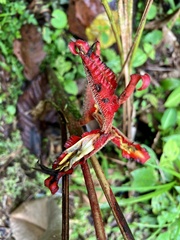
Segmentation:
<svg viewBox="0 0 180 240">
<path fill-rule="evenodd" d="M 60 10 L 56 9 L 52 13 L 51 24 L 54 28 L 65 28 L 67 25 L 67 16 L 66 14 Z"/>
</svg>

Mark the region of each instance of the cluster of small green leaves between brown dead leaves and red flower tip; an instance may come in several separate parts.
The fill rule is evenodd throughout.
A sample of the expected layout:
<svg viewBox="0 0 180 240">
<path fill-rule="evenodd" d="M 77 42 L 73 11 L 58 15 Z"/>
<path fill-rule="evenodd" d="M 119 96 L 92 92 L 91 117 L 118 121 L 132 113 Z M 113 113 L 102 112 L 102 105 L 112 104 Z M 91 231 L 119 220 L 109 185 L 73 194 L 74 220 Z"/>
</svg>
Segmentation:
<svg viewBox="0 0 180 240">
<path fill-rule="evenodd" d="M 48 55 L 44 64 L 50 65 L 50 67 L 55 70 L 58 80 L 67 93 L 77 95 L 78 88 L 74 79 L 79 75 L 84 77 L 84 71 L 80 64 L 79 67 L 81 69 L 78 68 L 78 65 L 76 66 L 79 60 L 69 53 L 67 43 L 70 39 L 67 36 L 65 41 L 62 37 L 67 29 L 67 16 L 65 12 L 55 9 L 52 12 L 51 25 L 52 26 L 45 25 L 42 29 L 43 40 L 45 41 L 45 51 Z"/>
</svg>

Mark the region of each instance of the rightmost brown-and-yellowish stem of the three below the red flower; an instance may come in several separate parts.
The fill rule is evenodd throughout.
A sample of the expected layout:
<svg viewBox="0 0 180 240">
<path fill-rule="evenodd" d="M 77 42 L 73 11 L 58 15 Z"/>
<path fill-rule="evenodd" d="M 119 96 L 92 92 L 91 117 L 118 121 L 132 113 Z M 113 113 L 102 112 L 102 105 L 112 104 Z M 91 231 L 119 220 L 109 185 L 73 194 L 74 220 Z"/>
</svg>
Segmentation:
<svg viewBox="0 0 180 240">
<path fill-rule="evenodd" d="M 125 240 L 134 240 L 134 237 L 131 233 L 131 230 L 130 230 L 130 228 L 129 228 L 129 226 L 128 226 L 125 218 L 124 218 L 124 215 L 123 215 L 123 213 L 122 213 L 122 211 L 121 211 L 121 209 L 120 209 L 120 207 L 119 207 L 119 205 L 116 201 L 116 198 L 115 198 L 115 196 L 114 196 L 114 194 L 113 194 L 113 192 L 112 192 L 112 190 L 109 186 L 109 183 L 104 176 L 104 173 L 101 169 L 101 166 L 99 165 L 99 162 L 98 162 L 98 160 L 95 156 L 91 157 L 91 164 L 94 168 L 94 171 L 97 175 L 99 183 L 100 183 L 100 185 L 103 189 L 103 192 L 106 196 L 106 199 L 107 199 L 107 201 L 108 201 L 108 203 L 109 203 L 109 205 L 112 209 L 112 212 L 114 214 L 114 217 L 116 219 L 116 222 L 117 222 L 117 224 L 118 224 L 118 226 L 121 230 L 121 233 L 122 233 L 124 239 Z"/>
</svg>

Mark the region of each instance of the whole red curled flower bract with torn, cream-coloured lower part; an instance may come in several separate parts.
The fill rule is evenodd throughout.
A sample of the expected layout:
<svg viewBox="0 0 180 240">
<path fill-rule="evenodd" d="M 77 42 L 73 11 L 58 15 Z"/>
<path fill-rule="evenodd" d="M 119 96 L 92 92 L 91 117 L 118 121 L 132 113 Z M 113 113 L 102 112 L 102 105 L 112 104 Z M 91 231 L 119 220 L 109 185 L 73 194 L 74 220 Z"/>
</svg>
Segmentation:
<svg viewBox="0 0 180 240">
<path fill-rule="evenodd" d="M 45 185 L 54 194 L 58 190 L 58 180 L 65 174 L 71 174 L 77 164 L 81 164 L 99 151 L 108 141 L 112 141 L 122 150 L 122 156 L 145 163 L 150 157 L 139 144 L 132 143 L 117 128 L 112 126 L 115 112 L 133 93 L 139 80 L 147 88 L 150 84 L 148 74 L 133 74 L 128 86 L 120 97 L 115 94 L 116 76 L 100 59 L 100 43 L 91 47 L 87 42 L 77 40 L 70 42 L 70 51 L 82 59 L 87 76 L 87 89 L 84 100 L 84 113 L 80 120 L 82 125 L 92 119 L 99 123 L 99 129 L 84 133 L 81 137 L 71 136 L 65 144 L 66 150 L 54 161 L 52 174 L 45 180 Z"/>
</svg>

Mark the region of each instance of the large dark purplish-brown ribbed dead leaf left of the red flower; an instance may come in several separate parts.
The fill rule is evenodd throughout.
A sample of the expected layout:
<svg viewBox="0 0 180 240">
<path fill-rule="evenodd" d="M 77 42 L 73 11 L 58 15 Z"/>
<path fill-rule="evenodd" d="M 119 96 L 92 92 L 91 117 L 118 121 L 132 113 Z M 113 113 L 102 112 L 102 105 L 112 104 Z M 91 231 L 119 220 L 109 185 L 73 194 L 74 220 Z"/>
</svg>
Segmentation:
<svg viewBox="0 0 180 240">
<path fill-rule="evenodd" d="M 41 74 L 31 81 L 17 103 L 18 127 L 23 143 L 37 157 L 42 152 L 47 154 L 50 141 L 56 142 L 60 137 L 57 112 L 48 102 L 50 94 L 47 77 Z M 48 141 L 43 142 L 44 138 Z"/>
</svg>

